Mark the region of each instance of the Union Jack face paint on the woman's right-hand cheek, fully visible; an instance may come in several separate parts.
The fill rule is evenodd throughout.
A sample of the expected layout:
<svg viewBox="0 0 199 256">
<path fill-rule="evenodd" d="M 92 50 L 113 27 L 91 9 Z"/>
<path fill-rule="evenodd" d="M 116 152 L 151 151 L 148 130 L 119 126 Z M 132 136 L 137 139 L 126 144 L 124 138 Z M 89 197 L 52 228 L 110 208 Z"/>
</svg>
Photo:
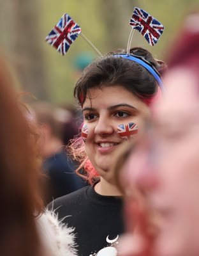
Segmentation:
<svg viewBox="0 0 199 256">
<path fill-rule="evenodd" d="M 131 141 L 138 134 L 138 125 L 135 123 L 120 124 L 116 131 L 122 139 Z"/>
</svg>

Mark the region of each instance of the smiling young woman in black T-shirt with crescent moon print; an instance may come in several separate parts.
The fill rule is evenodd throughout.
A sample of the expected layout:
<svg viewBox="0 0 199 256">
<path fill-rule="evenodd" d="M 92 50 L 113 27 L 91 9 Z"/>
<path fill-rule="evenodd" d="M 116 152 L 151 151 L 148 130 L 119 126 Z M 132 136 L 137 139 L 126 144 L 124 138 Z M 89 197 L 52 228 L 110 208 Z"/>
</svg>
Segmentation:
<svg viewBox="0 0 199 256">
<path fill-rule="evenodd" d="M 131 49 L 130 56 L 112 52 L 89 65 L 75 86 L 88 133 L 85 143 L 79 138 L 70 148 L 92 186 L 58 198 L 50 207 L 75 227 L 79 256 L 117 255 L 114 245 L 124 231 L 121 192 L 110 172 L 124 141 L 117 127 L 133 122 L 142 135 L 163 67 L 142 48 Z"/>
</svg>

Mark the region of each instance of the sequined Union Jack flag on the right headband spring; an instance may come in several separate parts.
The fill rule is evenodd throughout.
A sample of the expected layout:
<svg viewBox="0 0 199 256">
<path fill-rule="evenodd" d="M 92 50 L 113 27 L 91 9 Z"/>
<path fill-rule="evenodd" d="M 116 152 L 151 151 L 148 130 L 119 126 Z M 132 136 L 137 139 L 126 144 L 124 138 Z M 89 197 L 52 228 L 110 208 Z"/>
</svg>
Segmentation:
<svg viewBox="0 0 199 256">
<path fill-rule="evenodd" d="M 152 46 L 158 42 L 159 36 L 161 36 L 165 29 L 158 20 L 137 7 L 133 10 L 129 24 L 138 30 Z"/>
</svg>

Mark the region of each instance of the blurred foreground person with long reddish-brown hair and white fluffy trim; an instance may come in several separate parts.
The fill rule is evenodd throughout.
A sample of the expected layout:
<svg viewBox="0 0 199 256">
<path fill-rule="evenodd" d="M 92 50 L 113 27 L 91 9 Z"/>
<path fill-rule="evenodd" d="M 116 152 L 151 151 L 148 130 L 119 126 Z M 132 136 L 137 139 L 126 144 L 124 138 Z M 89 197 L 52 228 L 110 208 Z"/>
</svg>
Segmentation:
<svg viewBox="0 0 199 256">
<path fill-rule="evenodd" d="M 31 115 L 17 100 L 0 61 L 0 252 L 3 256 L 75 256 L 72 228 L 43 211 L 41 161 Z"/>
</svg>

